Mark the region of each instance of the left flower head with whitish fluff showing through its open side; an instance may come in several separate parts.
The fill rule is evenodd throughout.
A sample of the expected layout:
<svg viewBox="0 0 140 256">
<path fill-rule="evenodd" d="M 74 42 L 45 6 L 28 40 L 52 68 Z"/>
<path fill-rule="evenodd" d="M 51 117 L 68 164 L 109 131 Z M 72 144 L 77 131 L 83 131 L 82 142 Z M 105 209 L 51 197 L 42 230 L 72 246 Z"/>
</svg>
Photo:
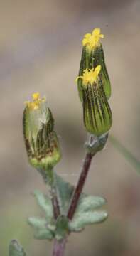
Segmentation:
<svg viewBox="0 0 140 256">
<path fill-rule="evenodd" d="M 28 160 L 37 169 L 52 169 L 60 160 L 58 137 L 53 130 L 54 119 L 46 106 L 45 97 L 33 94 L 32 102 L 25 102 L 23 136 Z"/>
</svg>

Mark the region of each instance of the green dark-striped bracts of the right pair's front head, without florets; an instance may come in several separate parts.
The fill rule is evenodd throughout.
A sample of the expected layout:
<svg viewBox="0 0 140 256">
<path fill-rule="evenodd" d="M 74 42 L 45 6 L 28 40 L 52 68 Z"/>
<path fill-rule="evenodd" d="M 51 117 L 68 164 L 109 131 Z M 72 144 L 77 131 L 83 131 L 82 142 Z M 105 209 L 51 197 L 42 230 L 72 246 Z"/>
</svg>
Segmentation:
<svg viewBox="0 0 140 256">
<path fill-rule="evenodd" d="M 112 127 L 112 111 L 99 79 L 93 85 L 82 86 L 83 119 L 87 132 L 100 136 Z"/>
</svg>

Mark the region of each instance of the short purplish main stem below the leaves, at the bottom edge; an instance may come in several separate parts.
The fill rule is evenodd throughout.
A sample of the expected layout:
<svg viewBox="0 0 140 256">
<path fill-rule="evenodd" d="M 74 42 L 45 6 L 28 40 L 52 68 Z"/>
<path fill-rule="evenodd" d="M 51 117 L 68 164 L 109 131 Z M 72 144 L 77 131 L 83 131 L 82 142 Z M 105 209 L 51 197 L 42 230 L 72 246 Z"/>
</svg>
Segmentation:
<svg viewBox="0 0 140 256">
<path fill-rule="evenodd" d="M 63 256 L 65 250 L 66 239 L 58 241 L 55 239 L 53 245 L 53 256 Z"/>
</svg>

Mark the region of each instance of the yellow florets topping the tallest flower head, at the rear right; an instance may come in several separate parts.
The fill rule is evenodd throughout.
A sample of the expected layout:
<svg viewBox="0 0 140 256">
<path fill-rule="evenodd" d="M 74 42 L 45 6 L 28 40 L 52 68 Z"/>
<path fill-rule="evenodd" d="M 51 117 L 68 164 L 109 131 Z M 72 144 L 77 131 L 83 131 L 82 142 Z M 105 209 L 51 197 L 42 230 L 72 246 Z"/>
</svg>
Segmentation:
<svg viewBox="0 0 140 256">
<path fill-rule="evenodd" d="M 90 50 L 99 46 L 100 38 L 104 38 L 104 35 L 100 33 L 100 28 L 95 28 L 92 33 L 85 34 L 82 40 L 82 46 L 87 46 Z"/>
</svg>

